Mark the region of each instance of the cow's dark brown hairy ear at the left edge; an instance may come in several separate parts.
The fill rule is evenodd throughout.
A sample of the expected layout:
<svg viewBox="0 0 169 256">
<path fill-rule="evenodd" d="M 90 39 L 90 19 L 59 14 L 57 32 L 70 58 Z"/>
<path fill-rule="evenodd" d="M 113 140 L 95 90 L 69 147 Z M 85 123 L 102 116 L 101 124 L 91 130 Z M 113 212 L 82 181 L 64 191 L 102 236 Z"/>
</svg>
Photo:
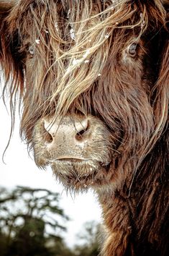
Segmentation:
<svg viewBox="0 0 169 256">
<path fill-rule="evenodd" d="M 14 1 L 0 1 L 0 64 L 4 73 L 5 85 L 10 81 L 10 92 L 23 87 L 23 68 L 19 58 L 19 35 L 10 28 Z"/>
</svg>

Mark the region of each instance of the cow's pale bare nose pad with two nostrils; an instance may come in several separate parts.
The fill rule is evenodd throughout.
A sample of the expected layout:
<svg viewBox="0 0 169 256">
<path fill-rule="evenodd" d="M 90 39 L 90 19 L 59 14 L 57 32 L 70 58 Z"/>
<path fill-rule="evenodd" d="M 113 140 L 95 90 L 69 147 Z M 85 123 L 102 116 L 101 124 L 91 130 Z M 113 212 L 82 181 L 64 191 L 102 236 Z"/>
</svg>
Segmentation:
<svg viewBox="0 0 169 256">
<path fill-rule="evenodd" d="M 44 119 L 45 142 L 48 146 L 80 145 L 88 135 L 88 119 L 85 116 L 65 116 L 62 119 L 53 121 Z"/>
</svg>

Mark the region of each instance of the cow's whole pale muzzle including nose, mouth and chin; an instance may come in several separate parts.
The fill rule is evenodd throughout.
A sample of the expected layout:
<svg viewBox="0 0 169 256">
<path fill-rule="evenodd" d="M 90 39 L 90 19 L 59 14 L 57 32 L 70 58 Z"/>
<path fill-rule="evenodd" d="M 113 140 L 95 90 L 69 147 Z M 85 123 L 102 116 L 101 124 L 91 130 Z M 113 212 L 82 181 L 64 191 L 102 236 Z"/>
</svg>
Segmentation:
<svg viewBox="0 0 169 256">
<path fill-rule="evenodd" d="M 70 187 L 88 187 L 101 179 L 111 161 L 109 130 L 95 116 L 45 117 L 33 132 L 37 166 L 50 165 Z"/>
</svg>

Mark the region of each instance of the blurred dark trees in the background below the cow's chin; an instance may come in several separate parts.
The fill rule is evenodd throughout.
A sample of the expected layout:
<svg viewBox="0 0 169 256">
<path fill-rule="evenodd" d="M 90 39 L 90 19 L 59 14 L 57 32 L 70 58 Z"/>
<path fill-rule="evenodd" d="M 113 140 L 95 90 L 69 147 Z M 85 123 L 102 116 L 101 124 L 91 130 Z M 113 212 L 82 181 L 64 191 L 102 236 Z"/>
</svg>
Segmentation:
<svg viewBox="0 0 169 256">
<path fill-rule="evenodd" d="M 69 217 L 59 206 L 58 193 L 47 189 L 0 188 L 1 256 L 99 255 L 98 223 L 86 223 L 70 249 L 63 239 Z"/>
</svg>

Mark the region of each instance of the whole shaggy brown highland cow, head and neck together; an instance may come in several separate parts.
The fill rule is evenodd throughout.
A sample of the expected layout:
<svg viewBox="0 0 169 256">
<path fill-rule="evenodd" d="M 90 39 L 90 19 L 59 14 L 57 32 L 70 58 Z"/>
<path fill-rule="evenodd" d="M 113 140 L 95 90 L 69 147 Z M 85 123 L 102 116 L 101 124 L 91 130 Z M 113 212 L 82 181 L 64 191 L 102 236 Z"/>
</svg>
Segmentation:
<svg viewBox="0 0 169 256">
<path fill-rule="evenodd" d="M 92 187 L 104 256 L 169 255 L 165 0 L 0 2 L 4 91 L 37 166 Z M 14 117 L 13 117 L 14 118 Z"/>
</svg>

